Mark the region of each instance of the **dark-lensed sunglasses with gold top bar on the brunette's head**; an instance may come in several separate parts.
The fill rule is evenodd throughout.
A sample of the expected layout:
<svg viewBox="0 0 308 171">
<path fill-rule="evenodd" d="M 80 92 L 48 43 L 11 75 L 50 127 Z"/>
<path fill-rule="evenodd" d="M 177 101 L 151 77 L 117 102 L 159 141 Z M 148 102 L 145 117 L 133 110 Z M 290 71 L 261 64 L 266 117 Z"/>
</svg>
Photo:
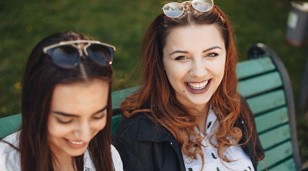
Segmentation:
<svg viewBox="0 0 308 171">
<path fill-rule="evenodd" d="M 78 43 L 86 43 L 83 47 Z M 116 48 L 112 45 L 94 40 L 62 41 L 43 48 L 43 53 L 51 57 L 58 67 L 68 69 L 78 66 L 83 54 L 101 66 L 112 64 Z"/>
</svg>

